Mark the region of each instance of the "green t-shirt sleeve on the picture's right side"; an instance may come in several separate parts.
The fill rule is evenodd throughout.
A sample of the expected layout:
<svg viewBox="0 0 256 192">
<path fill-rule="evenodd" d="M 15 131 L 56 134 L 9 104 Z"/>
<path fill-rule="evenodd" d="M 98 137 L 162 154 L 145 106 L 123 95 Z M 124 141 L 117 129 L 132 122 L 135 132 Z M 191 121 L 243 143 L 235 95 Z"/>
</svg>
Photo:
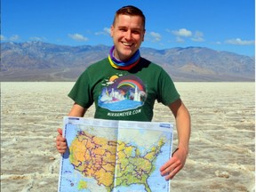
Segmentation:
<svg viewBox="0 0 256 192">
<path fill-rule="evenodd" d="M 158 102 L 162 102 L 165 106 L 170 105 L 175 100 L 180 99 L 180 94 L 177 92 L 175 85 L 164 69 L 158 79 Z"/>
</svg>

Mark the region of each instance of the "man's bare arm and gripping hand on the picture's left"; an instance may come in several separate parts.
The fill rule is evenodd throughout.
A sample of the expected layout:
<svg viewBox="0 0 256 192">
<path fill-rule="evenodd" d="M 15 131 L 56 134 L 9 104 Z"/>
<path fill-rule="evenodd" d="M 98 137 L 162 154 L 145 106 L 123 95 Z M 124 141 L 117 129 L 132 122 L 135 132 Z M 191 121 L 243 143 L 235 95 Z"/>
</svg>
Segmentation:
<svg viewBox="0 0 256 192">
<path fill-rule="evenodd" d="M 68 116 L 79 116 L 83 117 L 87 108 L 83 108 L 82 106 L 79 106 L 78 104 L 74 104 L 71 108 Z M 64 154 L 66 149 L 68 148 L 66 139 L 62 136 L 62 130 L 59 128 L 57 130 L 59 133 L 56 137 L 56 148 L 59 151 L 60 154 Z"/>
</svg>

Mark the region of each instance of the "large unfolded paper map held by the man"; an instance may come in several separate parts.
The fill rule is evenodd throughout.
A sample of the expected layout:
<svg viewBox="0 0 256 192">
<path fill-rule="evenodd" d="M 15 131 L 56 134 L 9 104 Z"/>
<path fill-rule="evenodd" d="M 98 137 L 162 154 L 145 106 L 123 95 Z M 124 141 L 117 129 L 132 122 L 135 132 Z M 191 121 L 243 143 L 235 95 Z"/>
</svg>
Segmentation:
<svg viewBox="0 0 256 192">
<path fill-rule="evenodd" d="M 172 124 L 64 117 L 59 192 L 169 192 Z"/>
</svg>

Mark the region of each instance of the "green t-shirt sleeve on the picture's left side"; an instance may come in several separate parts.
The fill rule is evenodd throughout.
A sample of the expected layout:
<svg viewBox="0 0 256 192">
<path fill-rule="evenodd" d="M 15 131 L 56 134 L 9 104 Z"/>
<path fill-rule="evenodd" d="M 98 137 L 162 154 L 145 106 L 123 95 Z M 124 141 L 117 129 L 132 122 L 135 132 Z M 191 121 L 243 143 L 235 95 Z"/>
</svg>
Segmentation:
<svg viewBox="0 0 256 192">
<path fill-rule="evenodd" d="M 73 86 L 71 91 L 68 93 L 68 97 L 76 102 L 76 104 L 83 108 L 90 108 L 93 103 L 92 89 L 91 89 L 90 76 L 87 70 L 79 76 L 76 84 Z"/>
</svg>

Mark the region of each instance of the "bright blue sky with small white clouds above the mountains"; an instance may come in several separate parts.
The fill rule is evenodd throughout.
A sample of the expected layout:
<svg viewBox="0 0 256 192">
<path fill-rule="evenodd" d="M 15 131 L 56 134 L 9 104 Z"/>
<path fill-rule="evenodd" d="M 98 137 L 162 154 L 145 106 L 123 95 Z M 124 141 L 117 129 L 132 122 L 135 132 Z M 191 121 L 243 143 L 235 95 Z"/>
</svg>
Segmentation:
<svg viewBox="0 0 256 192">
<path fill-rule="evenodd" d="M 1 42 L 112 45 L 114 14 L 128 4 L 146 16 L 143 47 L 255 54 L 254 0 L 2 0 Z"/>
</svg>

